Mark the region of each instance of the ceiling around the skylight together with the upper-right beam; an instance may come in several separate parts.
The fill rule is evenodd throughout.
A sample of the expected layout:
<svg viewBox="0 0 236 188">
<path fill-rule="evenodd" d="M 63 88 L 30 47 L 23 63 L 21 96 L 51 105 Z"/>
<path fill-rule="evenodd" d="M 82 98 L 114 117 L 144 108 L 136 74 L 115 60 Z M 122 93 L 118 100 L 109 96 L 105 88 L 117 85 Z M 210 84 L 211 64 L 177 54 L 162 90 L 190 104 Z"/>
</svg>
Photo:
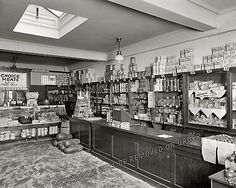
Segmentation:
<svg viewBox="0 0 236 188">
<path fill-rule="evenodd" d="M 137 6 L 132 7 L 132 2 Z M 88 20 L 59 40 L 13 32 L 29 4 Z M 199 23 L 195 30 L 213 29 L 216 16 L 235 7 L 236 0 L 0 0 L 0 38 L 110 52 L 117 48 L 118 36 L 122 37 L 123 47 L 179 29 L 189 30 Z"/>
</svg>

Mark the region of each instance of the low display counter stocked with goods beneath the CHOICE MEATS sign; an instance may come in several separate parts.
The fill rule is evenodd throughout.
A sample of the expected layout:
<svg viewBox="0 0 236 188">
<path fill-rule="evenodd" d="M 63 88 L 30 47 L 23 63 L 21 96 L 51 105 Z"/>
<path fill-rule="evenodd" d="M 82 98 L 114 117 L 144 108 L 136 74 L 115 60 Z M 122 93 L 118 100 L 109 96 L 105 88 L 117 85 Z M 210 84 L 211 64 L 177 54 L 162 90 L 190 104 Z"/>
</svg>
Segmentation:
<svg viewBox="0 0 236 188">
<path fill-rule="evenodd" d="M 56 112 L 65 113 L 65 106 L 45 105 L 38 106 L 37 109 L 28 106 L 1 107 L 0 111 L 1 144 L 56 135 L 59 132 L 61 121 L 55 114 Z M 33 116 L 33 122 L 20 124 L 18 117 L 22 115 Z"/>
</svg>

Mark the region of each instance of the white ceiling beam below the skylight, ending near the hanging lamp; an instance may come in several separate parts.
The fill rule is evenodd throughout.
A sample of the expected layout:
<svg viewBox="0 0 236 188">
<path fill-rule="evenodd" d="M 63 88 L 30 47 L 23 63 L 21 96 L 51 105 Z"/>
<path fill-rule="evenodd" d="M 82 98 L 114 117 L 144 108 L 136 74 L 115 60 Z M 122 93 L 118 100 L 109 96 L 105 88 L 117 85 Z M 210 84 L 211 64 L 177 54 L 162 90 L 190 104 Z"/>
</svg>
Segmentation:
<svg viewBox="0 0 236 188">
<path fill-rule="evenodd" d="M 0 50 L 22 52 L 70 59 L 85 59 L 95 61 L 107 61 L 108 54 L 104 52 L 88 51 L 82 49 L 50 46 L 38 43 L 15 41 L 0 38 Z"/>
</svg>

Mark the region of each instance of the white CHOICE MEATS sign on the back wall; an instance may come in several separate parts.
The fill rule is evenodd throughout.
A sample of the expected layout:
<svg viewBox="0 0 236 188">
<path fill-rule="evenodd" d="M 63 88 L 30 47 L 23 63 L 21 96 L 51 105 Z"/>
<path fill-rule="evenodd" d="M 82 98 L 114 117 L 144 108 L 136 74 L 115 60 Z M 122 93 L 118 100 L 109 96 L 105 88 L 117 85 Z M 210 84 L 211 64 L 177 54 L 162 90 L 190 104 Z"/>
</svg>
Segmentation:
<svg viewBox="0 0 236 188">
<path fill-rule="evenodd" d="M 0 89 L 27 90 L 27 73 L 0 72 Z"/>
</svg>

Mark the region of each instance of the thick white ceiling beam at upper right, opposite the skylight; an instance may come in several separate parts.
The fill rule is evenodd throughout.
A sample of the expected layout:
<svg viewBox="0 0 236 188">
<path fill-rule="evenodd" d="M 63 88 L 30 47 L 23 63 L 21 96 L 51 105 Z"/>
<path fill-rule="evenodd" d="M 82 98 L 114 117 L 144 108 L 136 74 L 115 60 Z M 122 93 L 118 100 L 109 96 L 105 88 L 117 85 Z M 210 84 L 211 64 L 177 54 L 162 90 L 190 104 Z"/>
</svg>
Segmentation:
<svg viewBox="0 0 236 188">
<path fill-rule="evenodd" d="M 199 31 L 217 28 L 217 14 L 188 0 L 108 0 Z"/>
</svg>

